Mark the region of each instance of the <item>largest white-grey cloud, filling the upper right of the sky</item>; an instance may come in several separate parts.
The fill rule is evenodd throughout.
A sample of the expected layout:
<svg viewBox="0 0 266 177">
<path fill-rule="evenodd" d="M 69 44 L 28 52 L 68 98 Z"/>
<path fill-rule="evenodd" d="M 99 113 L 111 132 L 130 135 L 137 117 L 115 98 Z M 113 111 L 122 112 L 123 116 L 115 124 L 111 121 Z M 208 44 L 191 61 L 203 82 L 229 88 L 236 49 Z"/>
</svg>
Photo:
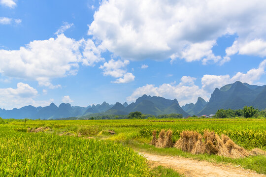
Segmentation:
<svg viewBox="0 0 266 177">
<path fill-rule="evenodd" d="M 243 47 L 256 39 L 239 54 L 265 56 L 265 9 L 263 0 L 103 0 L 88 34 L 122 59 L 223 64 L 230 55 L 215 56 L 212 47 L 228 34 Z"/>
</svg>

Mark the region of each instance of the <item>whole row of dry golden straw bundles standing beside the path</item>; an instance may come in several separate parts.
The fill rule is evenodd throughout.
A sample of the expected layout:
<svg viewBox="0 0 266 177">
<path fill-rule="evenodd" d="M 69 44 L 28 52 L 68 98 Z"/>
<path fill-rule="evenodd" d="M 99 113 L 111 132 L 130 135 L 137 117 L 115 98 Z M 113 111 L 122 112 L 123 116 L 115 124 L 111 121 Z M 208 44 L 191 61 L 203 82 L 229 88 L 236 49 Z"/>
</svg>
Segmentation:
<svg viewBox="0 0 266 177">
<path fill-rule="evenodd" d="M 214 131 L 204 131 L 204 141 L 200 133 L 196 131 L 182 131 L 180 139 L 173 145 L 172 131 L 162 130 L 157 140 L 156 131 L 153 131 L 151 145 L 157 148 L 175 147 L 192 154 L 216 154 L 231 158 L 243 158 L 249 155 L 266 155 L 266 151 L 255 148 L 250 152 L 236 145 L 228 136 L 222 134 L 219 137 Z"/>
</svg>

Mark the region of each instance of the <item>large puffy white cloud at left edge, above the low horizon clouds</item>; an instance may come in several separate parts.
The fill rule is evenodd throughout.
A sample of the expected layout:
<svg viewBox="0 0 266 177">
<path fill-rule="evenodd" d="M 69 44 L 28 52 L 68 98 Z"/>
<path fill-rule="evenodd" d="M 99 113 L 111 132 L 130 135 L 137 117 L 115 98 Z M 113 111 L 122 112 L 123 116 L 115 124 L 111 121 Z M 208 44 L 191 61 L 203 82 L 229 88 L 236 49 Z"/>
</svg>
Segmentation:
<svg viewBox="0 0 266 177">
<path fill-rule="evenodd" d="M 19 50 L 0 50 L 0 73 L 55 89 L 61 86 L 51 84 L 53 78 L 75 75 L 79 63 L 93 65 L 101 60 L 90 39 L 76 41 L 59 34 L 48 40 L 34 40 Z"/>
</svg>

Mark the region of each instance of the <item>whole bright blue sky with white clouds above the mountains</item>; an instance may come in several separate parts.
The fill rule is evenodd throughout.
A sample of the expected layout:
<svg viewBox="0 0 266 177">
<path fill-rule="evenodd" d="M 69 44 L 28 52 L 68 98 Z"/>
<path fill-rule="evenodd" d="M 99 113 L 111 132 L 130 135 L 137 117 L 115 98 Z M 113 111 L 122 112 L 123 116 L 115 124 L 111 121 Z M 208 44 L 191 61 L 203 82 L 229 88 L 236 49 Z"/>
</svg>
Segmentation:
<svg viewBox="0 0 266 177">
<path fill-rule="evenodd" d="M 0 108 L 266 84 L 265 0 L 0 0 Z"/>
</svg>

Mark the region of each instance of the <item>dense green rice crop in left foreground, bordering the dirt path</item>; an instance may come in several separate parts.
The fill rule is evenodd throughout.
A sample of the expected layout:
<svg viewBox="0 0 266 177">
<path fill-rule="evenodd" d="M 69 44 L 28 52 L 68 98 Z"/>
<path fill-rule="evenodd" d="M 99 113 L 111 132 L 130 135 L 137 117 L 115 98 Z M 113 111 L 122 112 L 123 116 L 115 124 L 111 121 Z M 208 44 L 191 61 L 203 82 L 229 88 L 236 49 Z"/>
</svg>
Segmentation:
<svg viewBox="0 0 266 177">
<path fill-rule="evenodd" d="M 114 142 L 0 127 L 2 177 L 148 176 L 146 160 Z"/>
</svg>

